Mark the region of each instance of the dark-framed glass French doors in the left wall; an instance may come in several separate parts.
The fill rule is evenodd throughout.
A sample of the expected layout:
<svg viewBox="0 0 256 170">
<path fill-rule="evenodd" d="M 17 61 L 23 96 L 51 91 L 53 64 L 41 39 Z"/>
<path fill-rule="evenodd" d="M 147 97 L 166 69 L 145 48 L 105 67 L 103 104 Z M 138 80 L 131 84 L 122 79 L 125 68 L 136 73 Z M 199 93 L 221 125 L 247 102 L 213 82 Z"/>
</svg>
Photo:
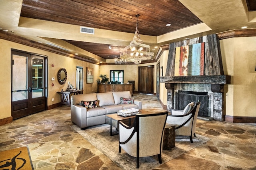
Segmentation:
<svg viewBox="0 0 256 170">
<path fill-rule="evenodd" d="M 46 57 L 11 51 L 12 118 L 46 109 Z"/>
</svg>

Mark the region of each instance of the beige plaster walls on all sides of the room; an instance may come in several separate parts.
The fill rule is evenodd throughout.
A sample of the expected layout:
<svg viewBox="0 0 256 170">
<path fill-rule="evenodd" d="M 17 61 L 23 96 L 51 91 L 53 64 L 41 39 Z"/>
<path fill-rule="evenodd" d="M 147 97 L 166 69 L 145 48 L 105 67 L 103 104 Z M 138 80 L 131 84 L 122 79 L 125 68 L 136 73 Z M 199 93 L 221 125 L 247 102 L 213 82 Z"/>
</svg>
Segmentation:
<svg viewBox="0 0 256 170">
<path fill-rule="evenodd" d="M 231 84 L 225 85 L 225 112 L 230 116 L 256 116 L 256 37 L 239 37 L 223 39 L 220 41 L 224 74 L 231 75 Z M 124 82 L 135 80 L 138 90 L 138 67 L 154 65 L 156 92 L 156 63 L 133 64 L 133 65 L 109 65 L 98 66 L 80 60 L 64 57 L 48 51 L 33 47 L 20 45 L 0 39 L 0 87 L 2 101 L 0 102 L 0 119 L 11 116 L 11 48 L 30 53 L 48 56 L 48 106 L 60 102 L 60 95 L 57 91 L 65 90 L 68 84 L 60 85 L 57 80 L 57 73 L 60 68 L 66 68 L 68 81 L 76 86 L 76 66 L 84 68 L 84 93 L 97 92 L 96 80 L 98 75 L 107 74 L 110 70 L 124 70 Z M 163 66 L 163 74 L 166 72 L 168 50 L 164 51 L 158 61 Z M 51 65 L 54 64 L 54 67 Z M 86 84 L 86 67 L 94 68 L 94 83 Z M 51 86 L 51 78 L 54 77 L 54 86 Z M 52 98 L 54 101 L 52 102 Z M 167 90 L 164 83 L 160 83 L 160 100 L 167 104 Z"/>
</svg>

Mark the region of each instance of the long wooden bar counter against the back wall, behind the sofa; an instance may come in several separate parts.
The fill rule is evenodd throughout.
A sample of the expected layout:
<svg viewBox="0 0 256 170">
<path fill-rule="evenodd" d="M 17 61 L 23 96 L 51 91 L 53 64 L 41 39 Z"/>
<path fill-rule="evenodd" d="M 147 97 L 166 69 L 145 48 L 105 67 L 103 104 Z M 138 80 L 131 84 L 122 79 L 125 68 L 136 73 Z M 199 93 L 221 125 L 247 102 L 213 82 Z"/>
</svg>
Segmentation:
<svg viewBox="0 0 256 170">
<path fill-rule="evenodd" d="M 98 92 L 124 92 L 130 91 L 130 94 L 133 95 L 133 84 L 98 84 Z"/>
</svg>

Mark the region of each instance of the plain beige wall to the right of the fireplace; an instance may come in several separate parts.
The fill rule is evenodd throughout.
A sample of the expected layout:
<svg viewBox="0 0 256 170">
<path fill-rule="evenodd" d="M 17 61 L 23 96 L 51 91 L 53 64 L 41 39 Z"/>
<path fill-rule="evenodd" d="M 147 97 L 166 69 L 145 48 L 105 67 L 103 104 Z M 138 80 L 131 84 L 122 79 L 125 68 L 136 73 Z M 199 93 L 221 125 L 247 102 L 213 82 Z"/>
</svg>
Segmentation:
<svg viewBox="0 0 256 170">
<path fill-rule="evenodd" d="M 256 37 L 236 37 L 220 41 L 225 85 L 226 115 L 256 117 Z"/>
</svg>

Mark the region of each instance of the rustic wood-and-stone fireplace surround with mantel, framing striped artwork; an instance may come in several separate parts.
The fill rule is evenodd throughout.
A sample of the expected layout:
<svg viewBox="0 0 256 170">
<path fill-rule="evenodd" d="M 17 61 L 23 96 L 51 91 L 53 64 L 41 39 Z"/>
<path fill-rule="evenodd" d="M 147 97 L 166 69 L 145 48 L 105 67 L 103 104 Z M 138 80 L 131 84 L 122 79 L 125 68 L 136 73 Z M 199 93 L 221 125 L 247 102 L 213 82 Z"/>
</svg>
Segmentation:
<svg viewBox="0 0 256 170">
<path fill-rule="evenodd" d="M 195 43 L 205 43 L 204 75 L 174 76 L 175 48 Z M 179 90 L 208 92 L 210 117 L 225 121 L 224 84 L 230 84 L 230 76 L 224 75 L 219 39 L 216 34 L 174 42 L 169 45 L 166 75 L 160 77 L 167 89 L 167 110 L 175 109 L 175 96 Z"/>
</svg>

